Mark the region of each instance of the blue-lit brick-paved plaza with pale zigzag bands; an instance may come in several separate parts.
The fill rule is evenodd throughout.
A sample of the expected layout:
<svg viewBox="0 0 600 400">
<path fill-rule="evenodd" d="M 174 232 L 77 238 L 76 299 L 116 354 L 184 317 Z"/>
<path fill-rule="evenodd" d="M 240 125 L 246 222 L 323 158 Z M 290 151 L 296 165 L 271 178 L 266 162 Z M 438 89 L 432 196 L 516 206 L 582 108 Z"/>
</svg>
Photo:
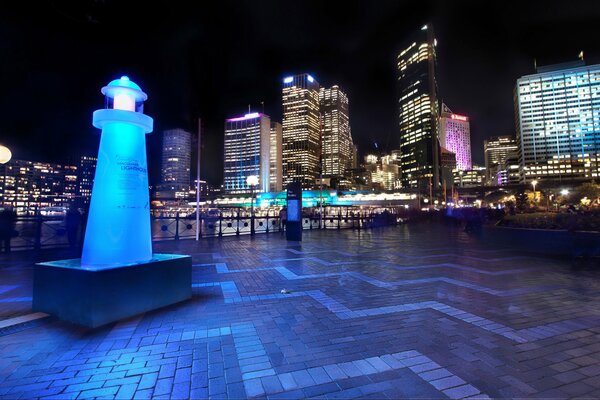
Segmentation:
<svg viewBox="0 0 600 400">
<path fill-rule="evenodd" d="M 600 398 L 593 263 L 433 223 L 155 252 L 193 256 L 193 298 L 95 330 L 31 310 L 73 253 L 1 255 L 0 398 Z"/>
</svg>

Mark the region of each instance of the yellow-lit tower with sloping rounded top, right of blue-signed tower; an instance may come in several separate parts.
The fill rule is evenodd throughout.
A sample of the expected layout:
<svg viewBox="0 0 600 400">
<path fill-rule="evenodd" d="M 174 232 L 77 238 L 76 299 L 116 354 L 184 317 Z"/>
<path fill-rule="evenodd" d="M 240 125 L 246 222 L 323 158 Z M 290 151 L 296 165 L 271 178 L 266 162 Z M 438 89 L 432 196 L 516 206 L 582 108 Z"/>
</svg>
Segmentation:
<svg viewBox="0 0 600 400">
<path fill-rule="evenodd" d="M 323 176 L 341 177 L 352 166 L 354 150 L 348 116 L 348 96 L 337 85 L 321 88 L 319 103 Z"/>
</svg>

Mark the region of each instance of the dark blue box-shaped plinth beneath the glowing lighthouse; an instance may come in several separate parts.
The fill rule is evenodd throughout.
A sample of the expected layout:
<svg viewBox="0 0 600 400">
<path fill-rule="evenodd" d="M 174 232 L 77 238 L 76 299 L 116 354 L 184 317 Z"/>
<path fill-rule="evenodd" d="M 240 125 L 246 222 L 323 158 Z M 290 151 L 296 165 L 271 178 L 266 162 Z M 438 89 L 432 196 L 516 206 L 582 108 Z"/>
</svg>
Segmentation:
<svg viewBox="0 0 600 400">
<path fill-rule="evenodd" d="M 190 256 L 154 254 L 145 263 L 89 268 L 80 259 L 40 263 L 33 310 L 96 328 L 192 297 Z"/>
</svg>

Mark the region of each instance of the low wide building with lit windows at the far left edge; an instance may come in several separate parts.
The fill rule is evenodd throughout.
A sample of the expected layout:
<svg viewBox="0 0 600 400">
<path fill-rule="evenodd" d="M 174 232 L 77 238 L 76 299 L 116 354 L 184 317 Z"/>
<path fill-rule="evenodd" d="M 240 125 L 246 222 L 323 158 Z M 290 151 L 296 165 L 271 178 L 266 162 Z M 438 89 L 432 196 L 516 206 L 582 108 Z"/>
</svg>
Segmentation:
<svg viewBox="0 0 600 400">
<path fill-rule="evenodd" d="M 46 207 L 68 207 L 77 198 L 74 165 L 10 160 L 4 167 L 0 203 L 15 207 L 19 214 L 43 212 Z"/>
</svg>

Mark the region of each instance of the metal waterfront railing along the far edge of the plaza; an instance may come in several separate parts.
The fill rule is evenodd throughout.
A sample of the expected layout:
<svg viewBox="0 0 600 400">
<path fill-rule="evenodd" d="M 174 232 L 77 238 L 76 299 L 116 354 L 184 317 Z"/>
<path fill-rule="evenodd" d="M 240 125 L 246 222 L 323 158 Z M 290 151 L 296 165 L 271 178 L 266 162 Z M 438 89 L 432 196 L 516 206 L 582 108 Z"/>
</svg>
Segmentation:
<svg viewBox="0 0 600 400">
<path fill-rule="evenodd" d="M 392 225 L 398 221 L 396 213 L 373 213 L 338 209 L 321 218 L 318 214 L 302 217 L 302 228 L 311 229 L 369 229 L 376 226 Z M 277 215 L 252 216 L 246 210 L 229 211 L 226 215 L 202 215 L 200 218 L 200 237 L 240 236 L 251 234 L 254 224 L 255 234 L 283 232 L 284 224 Z M 152 216 L 152 240 L 181 240 L 196 237 L 195 215 Z M 42 215 L 20 216 L 16 219 L 16 237 L 11 240 L 12 250 L 40 250 L 58 247 L 80 247 L 85 226 L 67 226 L 64 217 Z"/>
</svg>

